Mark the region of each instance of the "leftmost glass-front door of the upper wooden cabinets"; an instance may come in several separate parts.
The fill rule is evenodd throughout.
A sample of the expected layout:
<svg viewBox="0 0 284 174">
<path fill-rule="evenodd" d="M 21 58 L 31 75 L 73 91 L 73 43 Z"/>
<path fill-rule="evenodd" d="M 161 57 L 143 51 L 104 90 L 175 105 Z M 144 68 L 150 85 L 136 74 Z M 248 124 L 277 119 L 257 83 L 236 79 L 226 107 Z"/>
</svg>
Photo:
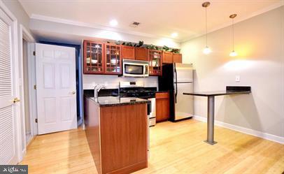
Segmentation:
<svg viewBox="0 0 284 174">
<path fill-rule="evenodd" d="M 104 43 L 84 41 L 84 73 L 104 73 Z"/>
</svg>

